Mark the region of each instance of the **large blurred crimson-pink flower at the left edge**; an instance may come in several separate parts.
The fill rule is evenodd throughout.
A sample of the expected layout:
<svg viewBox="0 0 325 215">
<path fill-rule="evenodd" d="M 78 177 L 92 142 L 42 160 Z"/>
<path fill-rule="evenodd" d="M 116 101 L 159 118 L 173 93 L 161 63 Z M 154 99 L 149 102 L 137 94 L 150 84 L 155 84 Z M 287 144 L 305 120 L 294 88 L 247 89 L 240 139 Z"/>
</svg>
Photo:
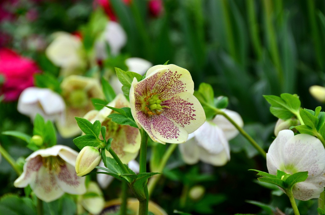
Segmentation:
<svg viewBox="0 0 325 215">
<path fill-rule="evenodd" d="M 33 74 L 38 72 L 38 66 L 31 59 L 7 48 L 0 49 L 0 75 L 5 79 L 0 95 L 5 95 L 5 101 L 17 100 L 25 88 L 34 86 Z"/>
</svg>

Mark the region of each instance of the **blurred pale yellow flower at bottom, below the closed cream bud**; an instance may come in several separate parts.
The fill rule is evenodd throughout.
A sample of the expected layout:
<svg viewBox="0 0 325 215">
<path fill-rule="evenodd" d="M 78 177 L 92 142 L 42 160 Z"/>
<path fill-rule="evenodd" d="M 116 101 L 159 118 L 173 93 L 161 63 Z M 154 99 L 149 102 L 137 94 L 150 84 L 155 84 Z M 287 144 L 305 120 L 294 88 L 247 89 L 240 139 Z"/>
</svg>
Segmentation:
<svg viewBox="0 0 325 215">
<path fill-rule="evenodd" d="M 88 195 L 89 194 L 89 195 Z M 77 214 L 85 214 L 85 209 L 91 214 L 99 214 L 105 206 L 105 199 L 98 185 L 90 181 L 84 195 L 78 197 Z"/>
</svg>

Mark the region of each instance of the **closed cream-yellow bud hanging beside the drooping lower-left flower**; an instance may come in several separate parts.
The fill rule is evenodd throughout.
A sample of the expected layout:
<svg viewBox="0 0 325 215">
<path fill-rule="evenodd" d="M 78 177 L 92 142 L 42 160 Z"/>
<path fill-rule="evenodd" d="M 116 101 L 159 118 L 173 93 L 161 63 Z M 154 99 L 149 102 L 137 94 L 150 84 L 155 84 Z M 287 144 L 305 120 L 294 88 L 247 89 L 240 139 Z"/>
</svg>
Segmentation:
<svg viewBox="0 0 325 215">
<path fill-rule="evenodd" d="M 90 173 L 100 162 L 101 155 L 97 147 L 85 146 L 76 159 L 76 173 L 84 176 Z"/>
</svg>

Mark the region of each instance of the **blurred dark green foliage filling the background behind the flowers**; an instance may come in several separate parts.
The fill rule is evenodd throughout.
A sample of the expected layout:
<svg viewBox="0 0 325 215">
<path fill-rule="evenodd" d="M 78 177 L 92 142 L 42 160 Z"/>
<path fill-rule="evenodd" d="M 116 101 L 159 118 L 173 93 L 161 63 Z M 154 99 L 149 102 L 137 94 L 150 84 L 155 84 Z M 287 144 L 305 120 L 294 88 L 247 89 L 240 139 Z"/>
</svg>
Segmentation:
<svg viewBox="0 0 325 215">
<path fill-rule="evenodd" d="M 296 93 L 303 107 L 320 106 L 308 88 L 325 81 L 324 1 L 163 0 L 159 14 L 148 10 L 149 1 L 127 2 L 110 0 L 116 20 L 127 34 L 122 52 L 153 65 L 169 60 L 184 67 L 196 88 L 201 82 L 211 84 L 216 96 L 229 98 L 228 109 L 240 113 L 244 130 L 264 149 L 273 141 L 276 118 L 262 95 Z M 7 17 L 1 19 L 0 45 L 33 58 L 43 71 L 58 76 L 59 69 L 44 54 L 49 35 L 55 31 L 87 32 L 98 7 L 97 1 L 89 0 L 2 1 L 2 16 Z M 100 26 L 97 21 L 93 18 Z M 17 113 L 16 106 L 15 102 L 1 102 L 0 130 L 31 133 L 29 118 Z M 59 141 L 73 147 L 72 139 Z M 16 138 L 1 135 L 0 142 L 14 158 L 30 153 Z M 185 165 L 175 153 L 152 200 L 168 214 L 174 209 L 192 214 L 272 214 L 267 211 L 276 207 L 290 212 L 286 196 L 277 188 L 261 186 L 255 173 L 247 171 L 266 171 L 265 160 L 241 136 L 230 142 L 230 148 L 231 161 L 223 167 Z M 2 161 L 1 196 L 21 192 L 13 187 L 15 179 L 15 173 Z M 187 197 L 195 185 L 205 187 L 204 197 Z M 105 191 L 106 197 L 118 197 L 118 187 L 119 182 L 114 181 Z M 315 214 L 308 211 L 314 203 L 300 202 L 299 207 L 306 211 L 303 214 Z"/>
</svg>

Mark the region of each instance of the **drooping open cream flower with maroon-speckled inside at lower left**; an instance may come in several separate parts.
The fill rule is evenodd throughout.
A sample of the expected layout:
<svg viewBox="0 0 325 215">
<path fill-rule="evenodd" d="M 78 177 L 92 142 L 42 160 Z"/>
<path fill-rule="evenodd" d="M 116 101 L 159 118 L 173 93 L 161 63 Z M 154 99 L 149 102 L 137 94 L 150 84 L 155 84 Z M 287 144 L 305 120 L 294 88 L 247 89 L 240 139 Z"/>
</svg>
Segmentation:
<svg viewBox="0 0 325 215">
<path fill-rule="evenodd" d="M 24 172 L 14 185 L 30 185 L 35 195 L 45 202 L 54 201 L 64 193 L 84 194 L 85 178 L 78 177 L 74 170 L 77 155 L 78 152 L 62 145 L 39 149 L 26 158 Z"/>
</svg>

